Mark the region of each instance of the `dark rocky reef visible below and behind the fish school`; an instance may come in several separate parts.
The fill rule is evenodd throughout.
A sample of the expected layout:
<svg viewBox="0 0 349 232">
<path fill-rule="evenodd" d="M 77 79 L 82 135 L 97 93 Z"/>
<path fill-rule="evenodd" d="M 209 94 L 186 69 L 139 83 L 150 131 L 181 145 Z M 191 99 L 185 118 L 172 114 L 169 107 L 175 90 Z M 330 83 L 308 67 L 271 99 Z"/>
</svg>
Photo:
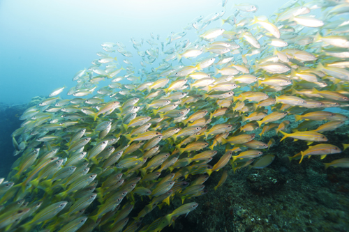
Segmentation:
<svg viewBox="0 0 349 232">
<path fill-rule="evenodd" d="M 27 105 L 0 104 L 0 177 L 6 177 L 17 157 L 13 157 L 13 145 L 10 134 L 20 127 L 18 118 Z M 348 111 L 341 111 L 348 116 Z M 287 118 L 291 127 L 295 127 L 293 116 Z M 343 148 L 348 144 L 349 126 L 344 125 L 334 132 L 325 132 L 331 144 Z M 260 133 L 260 130 L 255 132 Z M 196 201 L 199 206 L 187 217 L 176 219 L 174 226 L 163 231 L 349 231 L 349 169 L 333 168 L 325 170 L 322 163 L 331 162 L 349 156 L 349 149 L 343 153 L 320 157 L 305 158 L 289 162 L 300 150 L 306 150 L 306 143 L 292 143 L 275 132 L 267 132 L 260 141 L 267 143 L 274 138 L 276 145 L 267 153 L 276 155 L 272 164 L 265 169 L 239 169 L 233 173 L 230 165 L 225 167 L 228 179 L 218 190 L 214 186 L 221 178 L 222 171 L 211 174 L 205 183 L 208 193 L 184 203 Z M 217 147 L 216 147 L 217 148 Z M 215 148 L 215 149 L 216 149 Z M 225 147 L 221 147 L 224 152 Z M 219 149 L 219 148 L 218 148 Z M 218 161 L 219 155 L 211 163 Z M 190 178 L 190 177 L 189 177 Z M 137 207 L 141 207 L 138 203 Z M 170 210 L 181 206 L 181 200 L 175 198 Z M 137 210 L 134 210 L 137 211 Z M 149 224 L 168 213 L 154 209 L 144 218 Z M 130 215 L 134 217 L 135 215 Z"/>
</svg>

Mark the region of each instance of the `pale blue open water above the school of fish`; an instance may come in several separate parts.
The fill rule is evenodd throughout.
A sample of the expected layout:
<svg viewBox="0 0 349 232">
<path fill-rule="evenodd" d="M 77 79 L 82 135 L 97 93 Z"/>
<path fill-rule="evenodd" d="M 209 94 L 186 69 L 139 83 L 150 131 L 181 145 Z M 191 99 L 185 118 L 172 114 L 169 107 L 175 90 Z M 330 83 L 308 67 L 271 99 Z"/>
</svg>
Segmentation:
<svg viewBox="0 0 349 232">
<path fill-rule="evenodd" d="M 242 2 L 228 1 L 227 11 Z M 284 2 L 250 3 L 258 5 L 258 14 L 270 15 Z M 3 0 L 0 2 L 1 102 L 26 103 L 66 85 L 61 94 L 64 98 L 75 85 L 71 81 L 73 75 L 98 58 L 96 52 L 103 51 L 103 42 L 119 41 L 131 51 L 134 50 L 131 37 L 147 40 L 154 33 L 165 40 L 172 31 L 183 31 L 195 17 L 221 10 L 221 0 Z M 187 37 L 196 39 L 193 30 Z M 117 56 L 120 62 L 125 58 Z M 136 69 L 142 68 L 139 56 L 135 55 L 133 60 Z"/>
</svg>

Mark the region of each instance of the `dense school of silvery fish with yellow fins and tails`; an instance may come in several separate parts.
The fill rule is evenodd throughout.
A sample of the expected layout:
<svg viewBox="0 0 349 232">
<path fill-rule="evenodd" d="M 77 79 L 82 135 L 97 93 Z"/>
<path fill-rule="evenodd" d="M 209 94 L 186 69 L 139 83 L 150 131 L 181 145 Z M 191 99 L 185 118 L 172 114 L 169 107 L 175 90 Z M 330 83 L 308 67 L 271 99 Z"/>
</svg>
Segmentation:
<svg viewBox="0 0 349 232">
<path fill-rule="evenodd" d="M 348 121 L 327 108 L 349 109 L 349 1 L 291 0 L 268 17 L 226 4 L 163 41 L 104 42 L 71 99 L 59 97 L 64 86 L 24 111 L 12 134 L 19 158 L 0 179 L 0 232 L 161 231 L 228 176 L 207 190 L 211 173 L 267 167 L 280 141 L 309 146 L 291 162 L 341 153 L 323 132 Z M 282 139 L 264 141 L 269 131 Z"/>
</svg>

